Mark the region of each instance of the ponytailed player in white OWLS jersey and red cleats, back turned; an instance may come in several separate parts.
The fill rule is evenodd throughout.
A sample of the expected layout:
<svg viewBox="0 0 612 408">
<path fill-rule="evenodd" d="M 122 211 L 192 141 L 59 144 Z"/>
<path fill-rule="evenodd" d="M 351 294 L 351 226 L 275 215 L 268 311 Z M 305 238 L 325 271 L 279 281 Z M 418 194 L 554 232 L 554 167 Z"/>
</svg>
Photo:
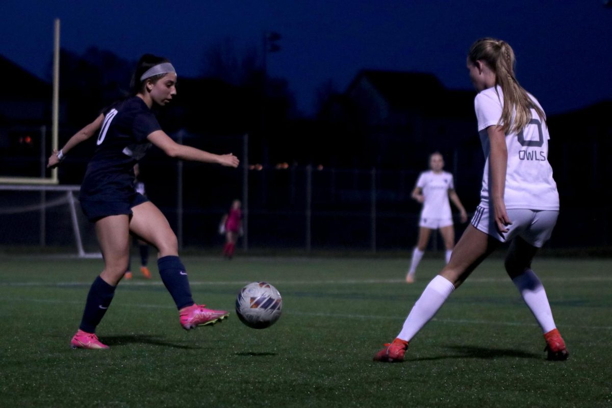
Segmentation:
<svg viewBox="0 0 612 408">
<path fill-rule="evenodd" d="M 469 50 L 467 68 L 479 91 L 474 107 L 486 158 L 480 205 L 449 264 L 425 287 L 397 338 L 374 356 L 376 361 L 403 361 L 408 342 L 451 292 L 507 241 L 506 272 L 542 328 L 548 360 L 569 356 L 542 282 L 531 270 L 531 261 L 550 238 L 559 213 L 559 195 L 548 163 L 546 116 L 537 100 L 518 84 L 514 63 L 512 48 L 501 40 L 480 39 Z"/>
</svg>

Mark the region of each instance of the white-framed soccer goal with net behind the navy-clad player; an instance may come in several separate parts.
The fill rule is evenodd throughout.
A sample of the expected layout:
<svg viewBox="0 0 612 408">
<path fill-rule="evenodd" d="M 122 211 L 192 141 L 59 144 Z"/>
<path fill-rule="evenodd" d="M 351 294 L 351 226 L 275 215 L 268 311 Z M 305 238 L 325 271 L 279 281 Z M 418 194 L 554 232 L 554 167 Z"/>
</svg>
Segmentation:
<svg viewBox="0 0 612 408">
<path fill-rule="evenodd" d="M 78 186 L 0 184 L 0 245 L 100 258 L 95 231 L 78 209 Z"/>
</svg>

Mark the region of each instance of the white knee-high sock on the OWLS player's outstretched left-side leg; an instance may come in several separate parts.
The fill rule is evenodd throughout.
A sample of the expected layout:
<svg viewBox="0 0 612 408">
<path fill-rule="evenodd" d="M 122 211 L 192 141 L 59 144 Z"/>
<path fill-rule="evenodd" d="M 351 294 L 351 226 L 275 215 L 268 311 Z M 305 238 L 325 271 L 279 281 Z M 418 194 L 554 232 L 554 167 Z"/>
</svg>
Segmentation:
<svg viewBox="0 0 612 408">
<path fill-rule="evenodd" d="M 425 287 L 425 290 L 419 297 L 412 310 L 406 317 L 404 326 L 401 329 L 398 338 L 410 341 L 423 326 L 431 320 L 433 316 L 441 308 L 452 291 L 455 290 L 455 285 L 449 280 L 438 275 L 433 278 Z"/>
</svg>

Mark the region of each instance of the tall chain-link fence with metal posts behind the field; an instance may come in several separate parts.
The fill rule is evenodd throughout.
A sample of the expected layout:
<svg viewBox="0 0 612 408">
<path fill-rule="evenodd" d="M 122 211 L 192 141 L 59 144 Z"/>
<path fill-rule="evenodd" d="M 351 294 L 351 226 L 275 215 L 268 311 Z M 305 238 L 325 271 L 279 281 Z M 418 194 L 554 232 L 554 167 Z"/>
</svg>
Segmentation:
<svg viewBox="0 0 612 408">
<path fill-rule="evenodd" d="M 147 195 L 165 213 L 184 248 L 216 248 L 223 242 L 218 224 L 234 199 L 244 213 L 245 250 L 297 249 L 407 250 L 417 240 L 420 205 L 410 198 L 419 171 L 334 169 L 320 165 L 248 163 L 248 139 L 203 138 L 196 145 L 212 152 L 234 152 L 237 169 L 172 160 L 152 150 L 141 163 Z M 472 212 L 479 202 L 480 174 L 464 171 L 455 154 L 447 168 Z M 451 161 L 451 163 L 449 163 Z M 458 165 L 459 163 L 459 165 Z M 86 160 L 62 164 L 61 180 L 78 184 Z M 470 168 L 474 168 L 471 166 Z M 75 193 L 78 198 L 78 193 Z M 65 195 L 47 191 L 0 191 L 0 245 L 75 245 Z M 608 247 L 611 218 L 606 203 L 588 210 L 563 206 L 551 248 Z M 21 209 L 21 210 L 20 210 Z M 86 250 L 95 250 L 95 234 L 78 209 Z M 453 208 L 453 210 L 455 210 Z M 456 236 L 466 224 L 455 217 Z M 432 239 L 430 248 L 442 248 Z"/>
</svg>

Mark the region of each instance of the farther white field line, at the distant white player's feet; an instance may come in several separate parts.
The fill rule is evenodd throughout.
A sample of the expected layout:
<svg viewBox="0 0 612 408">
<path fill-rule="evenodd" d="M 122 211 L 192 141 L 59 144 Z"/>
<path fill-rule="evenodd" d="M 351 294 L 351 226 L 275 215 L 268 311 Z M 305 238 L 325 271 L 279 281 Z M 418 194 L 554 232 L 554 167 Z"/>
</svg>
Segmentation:
<svg viewBox="0 0 612 408">
<path fill-rule="evenodd" d="M 468 278 L 466 284 L 470 283 L 507 283 L 510 278 Z M 544 277 L 544 284 L 547 282 L 569 283 L 569 282 L 612 282 L 610 276 L 572 276 L 571 278 Z M 244 285 L 250 280 L 234 281 L 190 281 L 191 286 L 223 286 L 223 285 Z M 423 280 L 426 283 L 427 280 Z M 274 280 L 274 285 L 327 285 L 327 284 L 405 284 L 403 279 L 341 279 L 341 280 Z M 0 282 L 0 286 L 89 286 L 91 281 L 72 281 L 72 282 Z M 141 282 L 122 282 L 122 286 L 162 286 L 161 281 L 141 281 Z"/>
</svg>

